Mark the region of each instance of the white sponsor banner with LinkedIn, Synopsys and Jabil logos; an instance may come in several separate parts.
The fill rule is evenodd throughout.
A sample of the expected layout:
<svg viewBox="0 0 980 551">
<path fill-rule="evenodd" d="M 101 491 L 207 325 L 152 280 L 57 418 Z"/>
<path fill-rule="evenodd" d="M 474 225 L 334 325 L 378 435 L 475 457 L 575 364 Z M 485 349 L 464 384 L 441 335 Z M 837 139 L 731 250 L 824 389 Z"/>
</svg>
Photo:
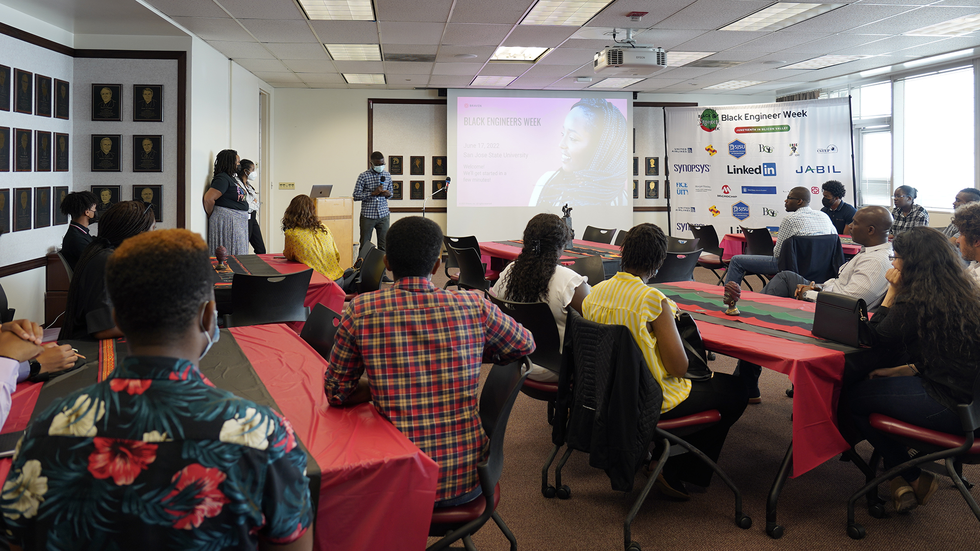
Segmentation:
<svg viewBox="0 0 980 551">
<path fill-rule="evenodd" d="M 854 181 L 849 98 L 664 111 L 670 207 L 684 213 L 674 235 L 690 236 L 689 224 L 714 225 L 719 235 L 778 227 L 793 187 L 808 188 L 819 209 L 824 181 Z"/>
</svg>

